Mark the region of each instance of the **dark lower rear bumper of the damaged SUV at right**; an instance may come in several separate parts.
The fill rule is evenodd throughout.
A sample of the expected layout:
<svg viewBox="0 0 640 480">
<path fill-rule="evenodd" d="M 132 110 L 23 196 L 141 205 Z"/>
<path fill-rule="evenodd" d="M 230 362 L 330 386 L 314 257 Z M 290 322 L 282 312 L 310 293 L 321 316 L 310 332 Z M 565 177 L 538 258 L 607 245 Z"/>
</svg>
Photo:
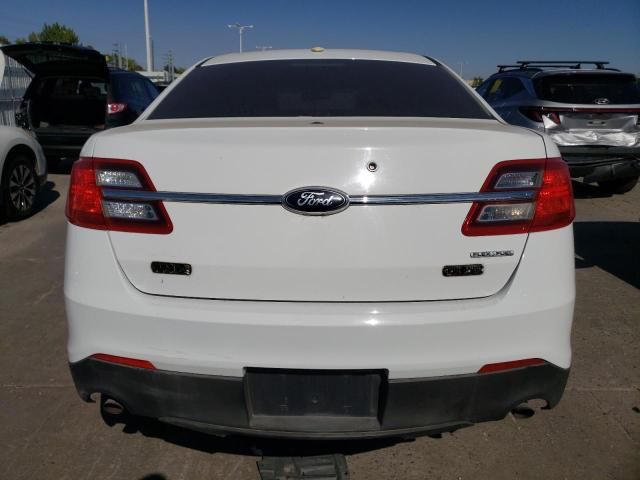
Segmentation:
<svg viewBox="0 0 640 480">
<path fill-rule="evenodd" d="M 640 175 L 640 148 L 558 147 L 572 177 L 587 182 Z"/>
</svg>

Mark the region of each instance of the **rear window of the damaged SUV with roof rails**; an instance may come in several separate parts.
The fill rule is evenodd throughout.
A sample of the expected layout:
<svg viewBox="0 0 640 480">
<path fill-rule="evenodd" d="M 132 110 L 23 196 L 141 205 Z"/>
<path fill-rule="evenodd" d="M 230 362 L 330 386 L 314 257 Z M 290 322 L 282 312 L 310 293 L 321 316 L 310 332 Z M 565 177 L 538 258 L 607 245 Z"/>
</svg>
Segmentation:
<svg viewBox="0 0 640 480">
<path fill-rule="evenodd" d="M 633 75 L 550 75 L 538 79 L 535 85 L 538 96 L 552 102 L 601 105 L 640 103 L 640 88 Z"/>
</svg>

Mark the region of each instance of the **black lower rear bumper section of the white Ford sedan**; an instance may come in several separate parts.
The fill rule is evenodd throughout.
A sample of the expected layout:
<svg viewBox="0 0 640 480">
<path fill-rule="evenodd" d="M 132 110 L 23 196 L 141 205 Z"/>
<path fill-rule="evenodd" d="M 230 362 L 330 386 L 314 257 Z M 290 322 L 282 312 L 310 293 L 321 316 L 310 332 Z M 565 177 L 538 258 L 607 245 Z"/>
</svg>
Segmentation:
<svg viewBox="0 0 640 480">
<path fill-rule="evenodd" d="M 245 398 L 243 377 L 195 375 L 120 366 L 95 359 L 71 365 L 80 396 L 102 393 L 139 416 L 214 434 L 280 438 L 374 438 L 452 431 L 500 420 L 518 404 L 544 399 L 554 407 L 564 391 L 568 369 L 546 363 L 489 373 L 385 380 L 374 425 L 335 428 L 323 417 L 272 417 L 256 421 Z M 332 417 L 335 418 L 335 417 Z M 289 420 L 289 421 L 287 421 Z"/>
</svg>

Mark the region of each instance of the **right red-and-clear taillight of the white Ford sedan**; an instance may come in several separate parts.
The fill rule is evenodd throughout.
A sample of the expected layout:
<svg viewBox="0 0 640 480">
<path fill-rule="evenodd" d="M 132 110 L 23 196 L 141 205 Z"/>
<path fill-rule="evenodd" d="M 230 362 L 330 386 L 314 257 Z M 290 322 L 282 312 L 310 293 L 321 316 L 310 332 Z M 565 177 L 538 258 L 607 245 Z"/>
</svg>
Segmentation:
<svg viewBox="0 0 640 480">
<path fill-rule="evenodd" d="M 569 225 L 575 217 L 571 177 L 561 158 L 500 162 L 480 191 L 529 191 L 532 198 L 475 202 L 462 225 L 467 236 L 553 230 Z"/>
</svg>

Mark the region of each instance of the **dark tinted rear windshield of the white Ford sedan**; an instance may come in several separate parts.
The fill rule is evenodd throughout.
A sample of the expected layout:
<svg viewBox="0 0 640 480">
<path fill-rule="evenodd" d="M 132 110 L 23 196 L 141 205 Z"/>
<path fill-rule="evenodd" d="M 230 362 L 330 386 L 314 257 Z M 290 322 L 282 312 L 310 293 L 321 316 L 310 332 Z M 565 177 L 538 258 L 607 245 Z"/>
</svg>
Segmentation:
<svg viewBox="0 0 640 480">
<path fill-rule="evenodd" d="M 150 119 L 492 118 L 441 67 L 370 60 L 273 60 L 198 67 Z"/>
</svg>

